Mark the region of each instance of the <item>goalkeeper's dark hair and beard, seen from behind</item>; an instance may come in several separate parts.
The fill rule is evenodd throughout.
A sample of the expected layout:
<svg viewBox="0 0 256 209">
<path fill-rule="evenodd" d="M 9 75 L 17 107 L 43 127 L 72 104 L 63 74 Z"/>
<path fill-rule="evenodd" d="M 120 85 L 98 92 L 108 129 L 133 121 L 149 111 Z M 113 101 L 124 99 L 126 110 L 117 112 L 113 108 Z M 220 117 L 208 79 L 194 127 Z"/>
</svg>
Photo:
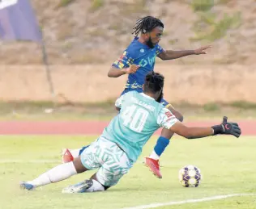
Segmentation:
<svg viewBox="0 0 256 209">
<path fill-rule="evenodd" d="M 163 88 L 164 88 L 164 76 L 160 73 L 154 73 L 154 71 L 147 73 L 145 83 L 144 83 L 144 91 L 151 92 L 153 94 L 160 91 L 160 97 L 157 98 L 157 102 L 163 98 Z"/>
</svg>

